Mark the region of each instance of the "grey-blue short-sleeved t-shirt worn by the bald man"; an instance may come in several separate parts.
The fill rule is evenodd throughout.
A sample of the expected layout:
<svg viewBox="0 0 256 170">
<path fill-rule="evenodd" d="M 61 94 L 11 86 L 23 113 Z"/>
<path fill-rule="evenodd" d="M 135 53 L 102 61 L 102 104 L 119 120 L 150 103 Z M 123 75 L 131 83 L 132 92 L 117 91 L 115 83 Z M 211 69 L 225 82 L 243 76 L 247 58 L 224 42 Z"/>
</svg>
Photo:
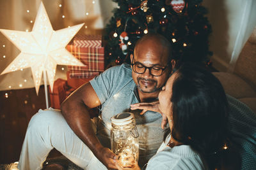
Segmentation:
<svg viewBox="0 0 256 170">
<path fill-rule="evenodd" d="M 162 117 L 154 111 L 140 115 L 140 110 L 131 111 L 130 104 L 139 103 L 136 84 L 132 80 L 132 69 L 129 64 L 114 66 L 90 81 L 102 104 L 97 136 L 104 145 L 109 143 L 111 130 L 110 118 L 118 113 L 129 111 L 134 113 L 139 132 L 140 158 L 147 161 L 163 142 Z M 106 146 L 105 145 L 105 146 Z M 144 162 L 144 161 L 143 161 Z"/>
</svg>

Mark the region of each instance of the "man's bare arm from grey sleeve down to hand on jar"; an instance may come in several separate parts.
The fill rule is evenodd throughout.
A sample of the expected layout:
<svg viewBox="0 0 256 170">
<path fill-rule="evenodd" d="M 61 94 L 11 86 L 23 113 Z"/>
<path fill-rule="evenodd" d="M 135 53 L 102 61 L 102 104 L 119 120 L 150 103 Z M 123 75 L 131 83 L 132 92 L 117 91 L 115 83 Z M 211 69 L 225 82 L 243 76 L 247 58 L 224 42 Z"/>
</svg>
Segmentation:
<svg viewBox="0 0 256 170">
<path fill-rule="evenodd" d="M 95 136 L 90 119 L 90 108 L 100 105 L 99 97 L 90 83 L 73 92 L 62 104 L 61 113 L 75 134 L 92 150 L 94 155 L 108 168 L 116 168 L 115 154 L 104 148 Z"/>
</svg>

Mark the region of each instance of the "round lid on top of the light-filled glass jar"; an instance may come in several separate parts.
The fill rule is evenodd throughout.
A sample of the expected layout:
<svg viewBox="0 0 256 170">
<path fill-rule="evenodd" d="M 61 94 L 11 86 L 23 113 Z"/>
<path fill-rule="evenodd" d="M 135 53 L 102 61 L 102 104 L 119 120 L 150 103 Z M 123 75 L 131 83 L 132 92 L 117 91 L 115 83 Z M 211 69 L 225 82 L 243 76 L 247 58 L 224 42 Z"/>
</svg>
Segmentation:
<svg viewBox="0 0 256 170">
<path fill-rule="evenodd" d="M 124 112 L 111 117 L 111 122 L 115 125 L 127 125 L 131 124 L 133 119 L 133 113 Z"/>
</svg>

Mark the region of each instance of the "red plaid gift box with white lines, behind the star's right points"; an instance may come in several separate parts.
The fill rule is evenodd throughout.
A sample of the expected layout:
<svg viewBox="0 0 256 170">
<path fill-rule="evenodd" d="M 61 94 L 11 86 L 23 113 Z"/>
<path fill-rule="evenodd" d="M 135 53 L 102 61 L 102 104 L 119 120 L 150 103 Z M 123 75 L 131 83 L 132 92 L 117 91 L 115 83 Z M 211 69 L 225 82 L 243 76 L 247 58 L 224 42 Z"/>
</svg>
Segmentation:
<svg viewBox="0 0 256 170">
<path fill-rule="evenodd" d="M 68 70 L 76 71 L 104 71 L 104 47 L 77 47 L 67 45 L 67 50 L 77 59 L 81 60 L 85 66 L 68 66 Z"/>
</svg>

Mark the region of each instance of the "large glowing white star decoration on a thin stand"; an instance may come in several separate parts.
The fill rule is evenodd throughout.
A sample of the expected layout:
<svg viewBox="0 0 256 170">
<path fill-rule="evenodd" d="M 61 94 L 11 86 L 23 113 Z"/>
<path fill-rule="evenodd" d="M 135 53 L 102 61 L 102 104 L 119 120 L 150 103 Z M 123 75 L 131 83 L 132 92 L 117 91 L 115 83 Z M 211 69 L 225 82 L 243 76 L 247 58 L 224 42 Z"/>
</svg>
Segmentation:
<svg viewBox="0 0 256 170">
<path fill-rule="evenodd" d="M 82 26 L 83 24 L 79 24 L 54 31 L 44 4 L 41 2 L 31 32 L 0 29 L 4 36 L 21 51 L 1 74 L 31 67 L 36 94 L 38 94 L 42 73 L 46 71 L 52 90 L 57 64 L 84 66 L 65 49 Z"/>
</svg>

